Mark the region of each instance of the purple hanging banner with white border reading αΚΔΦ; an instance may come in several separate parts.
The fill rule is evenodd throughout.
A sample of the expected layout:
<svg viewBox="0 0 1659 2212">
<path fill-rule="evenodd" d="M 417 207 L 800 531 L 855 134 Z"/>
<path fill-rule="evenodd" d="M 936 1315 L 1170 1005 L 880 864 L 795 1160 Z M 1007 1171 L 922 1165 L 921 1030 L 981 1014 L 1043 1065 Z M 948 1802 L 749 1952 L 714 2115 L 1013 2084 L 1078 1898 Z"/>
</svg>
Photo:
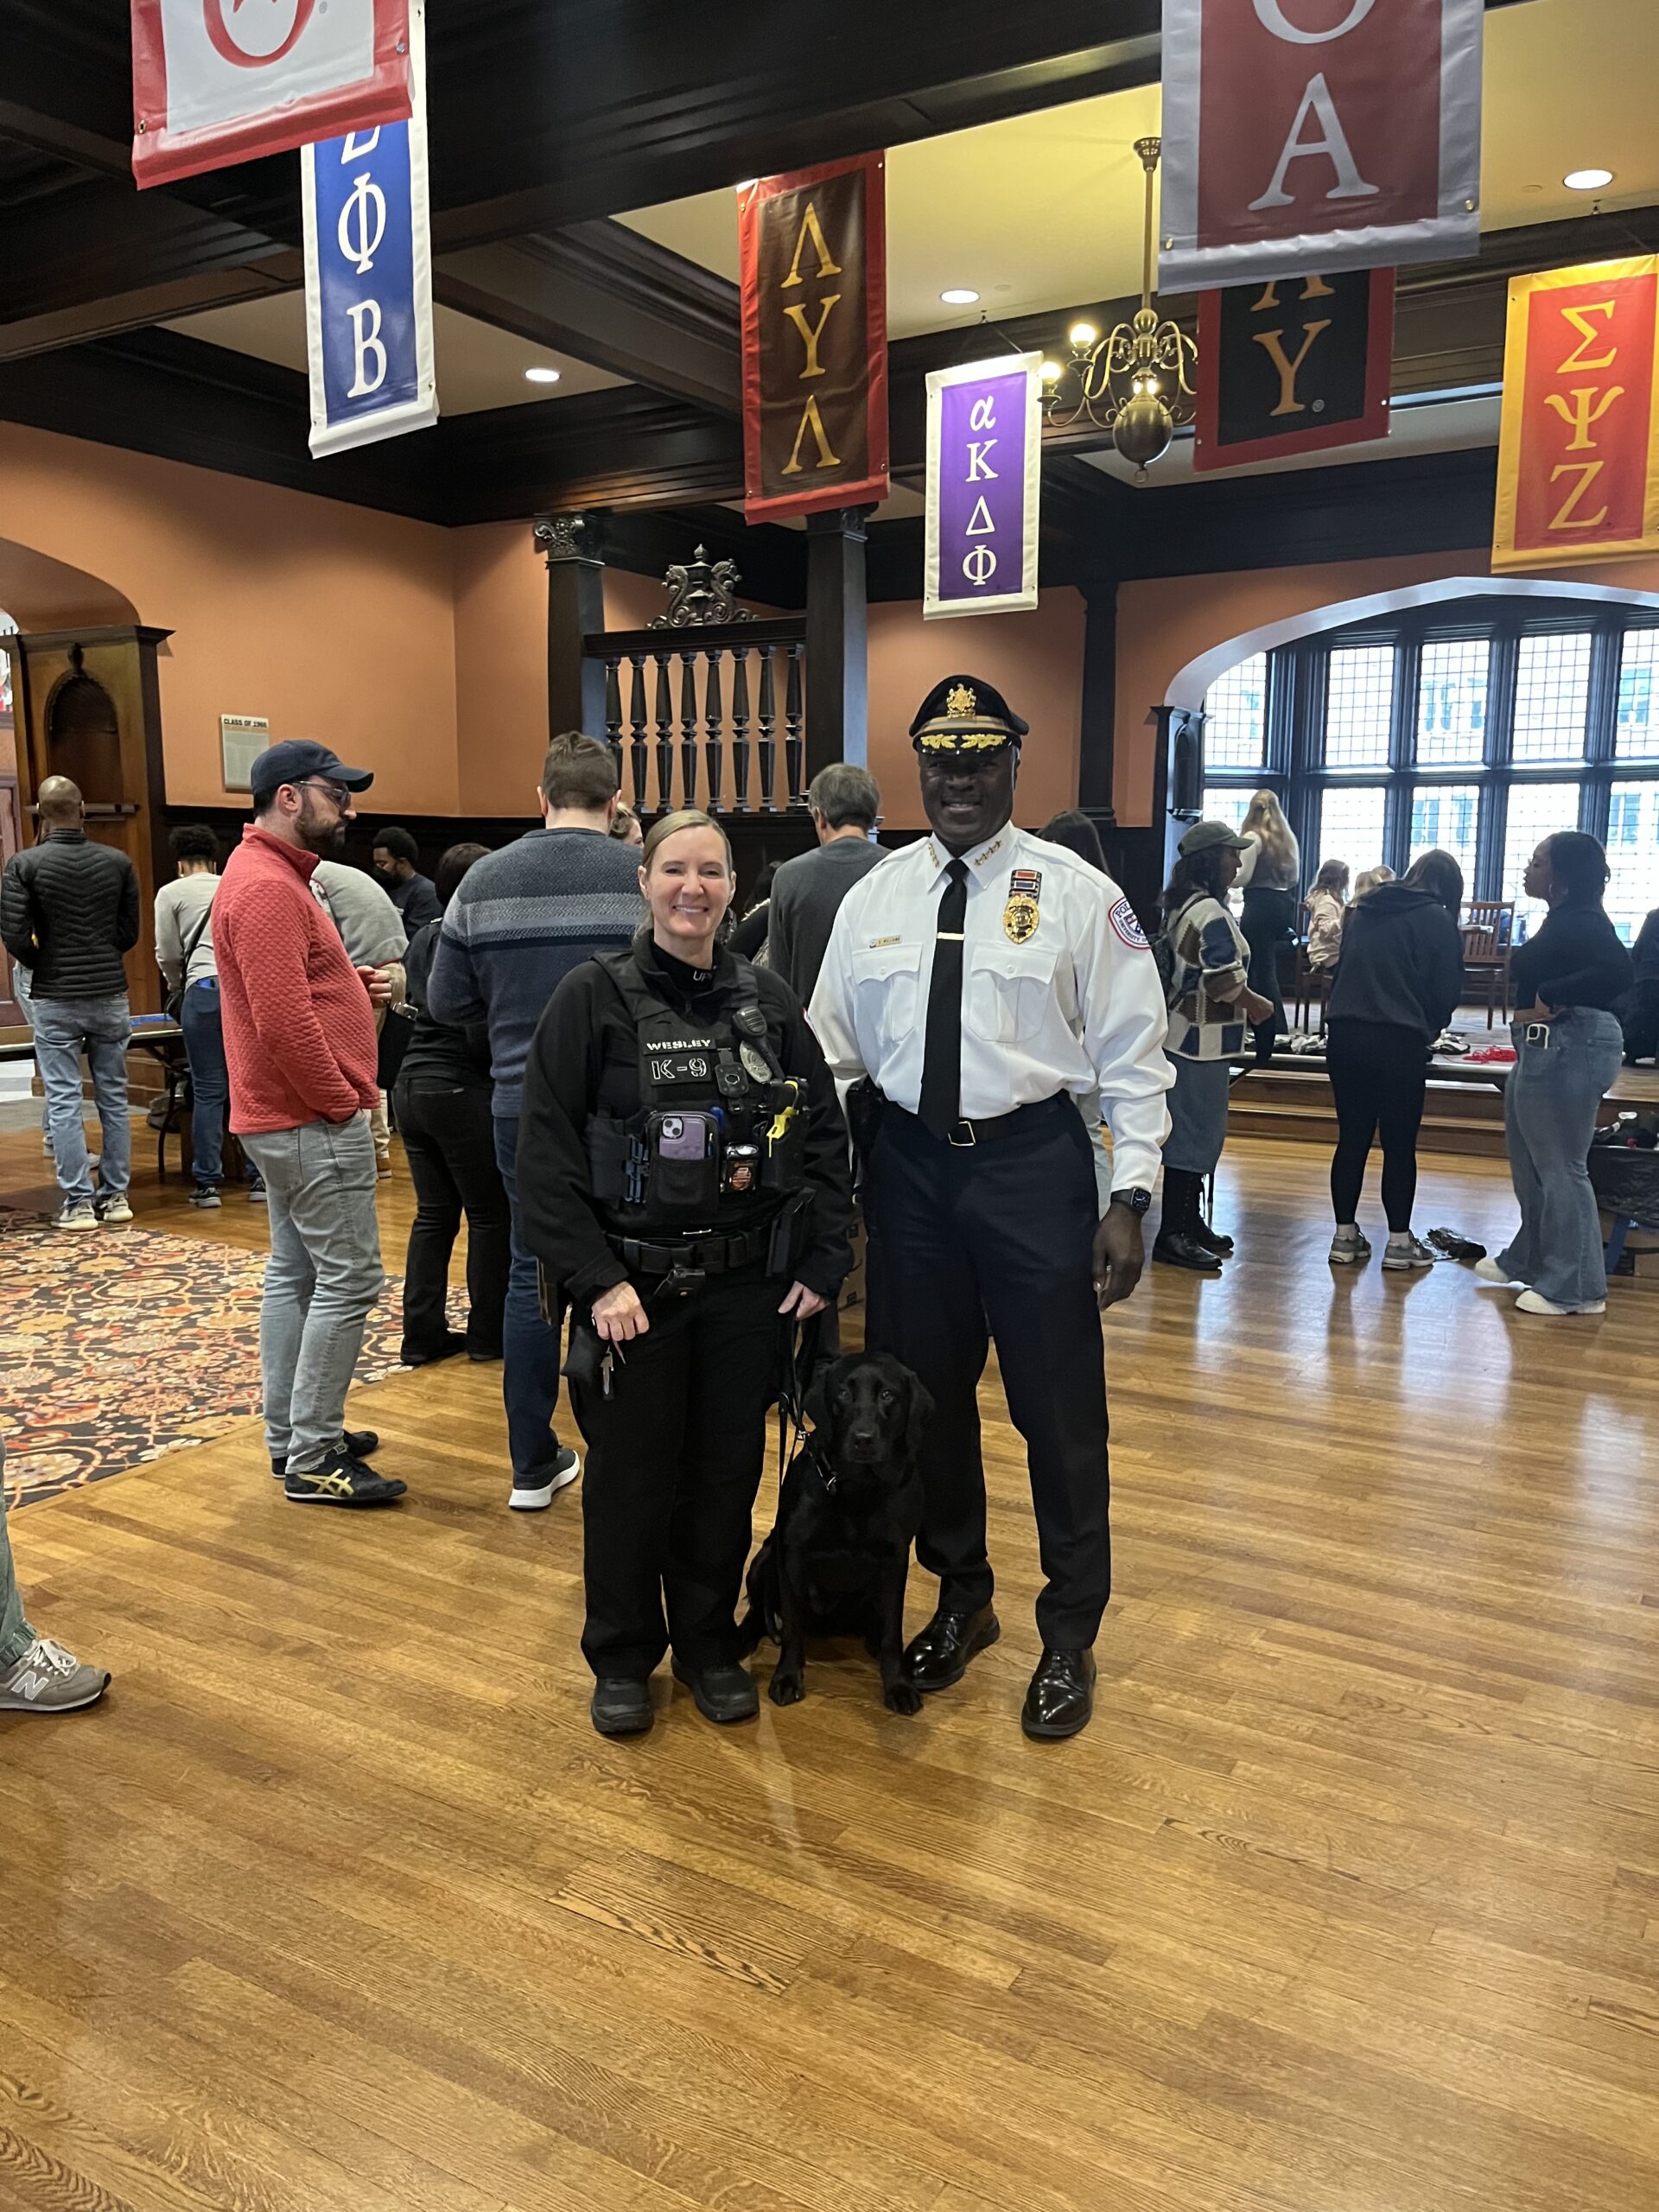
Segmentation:
<svg viewBox="0 0 1659 2212">
<path fill-rule="evenodd" d="M 922 615 L 1013 615 L 1037 604 L 1042 354 L 927 378 Z"/>
</svg>

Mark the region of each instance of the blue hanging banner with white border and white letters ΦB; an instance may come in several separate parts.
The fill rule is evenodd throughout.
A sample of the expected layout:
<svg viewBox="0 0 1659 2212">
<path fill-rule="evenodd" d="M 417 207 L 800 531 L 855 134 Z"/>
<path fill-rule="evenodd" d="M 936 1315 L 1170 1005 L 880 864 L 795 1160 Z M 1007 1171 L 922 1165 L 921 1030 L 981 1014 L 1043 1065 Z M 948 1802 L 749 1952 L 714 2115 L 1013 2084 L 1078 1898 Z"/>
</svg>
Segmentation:
<svg viewBox="0 0 1659 2212">
<path fill-rule="evenodd" d="M 422 18 L 409 0 L 409 122 L 301 150 L 314 458 L 438 420 Z"/>
</svg>

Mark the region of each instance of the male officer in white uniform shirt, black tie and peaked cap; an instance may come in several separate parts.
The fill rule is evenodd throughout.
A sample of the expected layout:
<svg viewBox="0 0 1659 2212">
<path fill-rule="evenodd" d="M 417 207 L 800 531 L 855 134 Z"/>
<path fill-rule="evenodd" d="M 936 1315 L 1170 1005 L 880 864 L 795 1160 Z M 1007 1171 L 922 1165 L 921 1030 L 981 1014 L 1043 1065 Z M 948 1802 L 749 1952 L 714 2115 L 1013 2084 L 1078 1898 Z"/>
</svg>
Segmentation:
<svg viewBox="0 0 1659 2212">
<path fill-rule="evenodd" d="M 1168 1011 L 1135 909 L 1110 878 L 1013 827 L 1026 723 L 947 677 L 911 723 L 933 834 L 847 894 L 812 1029 L 865 1150 L 869 1334 L 936 1413 L 916 1553 L 938 1610 L 905 1652 L 920 1690 L 995 1644 L 975 1385 L 991 1338 L 1026 1440 L 1046 1588 L 1029 1736 L 1075 1736 L 1110 1597 L 1099 1312 L 1139 1281 L 1141 1217 L 1168 1133 Z M 1099 1088 L 1113 1201 L 1099 1219 L 1077 1099 Z"/>
</svg>

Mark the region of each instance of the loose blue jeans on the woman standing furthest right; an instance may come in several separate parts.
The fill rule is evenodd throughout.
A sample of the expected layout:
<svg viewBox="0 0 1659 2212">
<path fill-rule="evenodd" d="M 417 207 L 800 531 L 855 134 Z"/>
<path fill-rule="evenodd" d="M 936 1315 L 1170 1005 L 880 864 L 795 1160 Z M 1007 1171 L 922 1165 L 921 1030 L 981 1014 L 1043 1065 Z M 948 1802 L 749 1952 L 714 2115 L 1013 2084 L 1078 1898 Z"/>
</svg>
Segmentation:
<svg viewBox="0 0 1659 2212">
<path fill-rule="evenodd" d="M 1608 1294 L 1601 1221 L 1590 1190 L 1595 1115 L 1624 1060 L 1617 1015 L 1568 1006 L 1546 1044 L 1513 1024 L 1515 1073 L 1504 1091 L 1504 1141 L 1522 1225 L 1498 1265 L 1555 1305 Z"/>
</svg>

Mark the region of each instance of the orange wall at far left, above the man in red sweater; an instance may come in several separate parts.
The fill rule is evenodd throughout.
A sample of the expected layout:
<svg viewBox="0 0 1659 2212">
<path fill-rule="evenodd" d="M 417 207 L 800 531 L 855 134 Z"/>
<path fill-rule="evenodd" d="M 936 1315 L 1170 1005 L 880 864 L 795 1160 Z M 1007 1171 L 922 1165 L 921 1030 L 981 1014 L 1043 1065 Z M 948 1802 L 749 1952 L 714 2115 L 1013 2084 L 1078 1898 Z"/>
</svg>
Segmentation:
<svg viewBox="0 0 1659 2212">
<path fill-rule="evenodd" d="M 383 805 L 456 812 L 447 531 L 13 422 L 0 531 L 175 633 L 168 799 L 223 805 L 219 714 L 265 714 L 372 765 Z"/>
</svg>

